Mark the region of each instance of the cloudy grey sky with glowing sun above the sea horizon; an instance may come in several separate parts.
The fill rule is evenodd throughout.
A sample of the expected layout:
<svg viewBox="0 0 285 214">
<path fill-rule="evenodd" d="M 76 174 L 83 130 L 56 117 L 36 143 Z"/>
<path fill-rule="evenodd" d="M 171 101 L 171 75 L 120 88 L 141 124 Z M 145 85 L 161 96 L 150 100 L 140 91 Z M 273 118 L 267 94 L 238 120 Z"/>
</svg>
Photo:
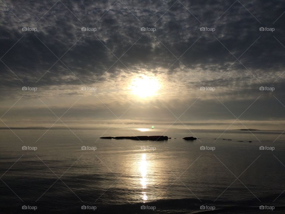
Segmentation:
<svg viewBox="0 0 285 214">
<path fill-rule="evenodd" d="M 0 127 L 284 130 L 284 12 L 276 0 L 1 0 Z"/>
</svg>

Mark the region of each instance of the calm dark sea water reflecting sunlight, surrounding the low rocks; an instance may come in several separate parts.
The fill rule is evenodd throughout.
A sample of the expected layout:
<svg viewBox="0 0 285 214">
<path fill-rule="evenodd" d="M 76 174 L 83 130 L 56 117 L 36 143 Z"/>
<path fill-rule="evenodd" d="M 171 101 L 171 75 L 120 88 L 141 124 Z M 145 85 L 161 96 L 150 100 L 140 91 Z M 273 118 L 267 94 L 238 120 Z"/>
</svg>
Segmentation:
<svg viewBox="0 0 285 214">
<path fill-rule="evenodd" d="M 282 132 L 106 130 L 0 130 L 0 213 L 285 211 Z M 172 139 L 99 139 L 102 134 Z"/>
</svg>

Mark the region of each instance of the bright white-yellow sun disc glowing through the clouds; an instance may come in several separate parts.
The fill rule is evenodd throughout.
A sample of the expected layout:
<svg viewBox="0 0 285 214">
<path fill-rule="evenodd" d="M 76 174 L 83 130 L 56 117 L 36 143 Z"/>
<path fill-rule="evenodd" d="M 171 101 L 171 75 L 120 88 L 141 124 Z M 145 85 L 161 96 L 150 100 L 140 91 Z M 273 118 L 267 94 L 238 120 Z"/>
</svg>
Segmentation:
<svg viewBox="0 0 285 214">
<path fill-rule="evenodd" d="M 151 97 L 160 89 L 159 80 L 154 77 L 139 76 L 132 80 L 130 89 L 139 97 Z"/>
</svg>

